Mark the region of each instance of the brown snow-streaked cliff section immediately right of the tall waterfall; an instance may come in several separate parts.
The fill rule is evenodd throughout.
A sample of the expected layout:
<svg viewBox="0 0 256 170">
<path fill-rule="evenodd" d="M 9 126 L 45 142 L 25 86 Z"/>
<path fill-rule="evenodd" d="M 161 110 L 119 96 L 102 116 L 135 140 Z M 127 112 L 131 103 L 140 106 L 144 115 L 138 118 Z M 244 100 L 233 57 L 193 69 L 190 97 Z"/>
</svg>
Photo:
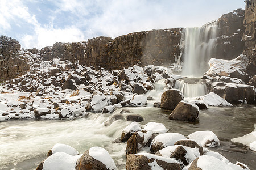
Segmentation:
<svg viewBox="0 0 256 170">
<path fill-rule="evenodd" d="M 234 59 L 243 52 L 245 42 L 242 41 L 243 19 L 245 10 L 237 9 L 222 15 L 218 21 L 219 37 L 217 39 L 216 57 L 218 59 Z"/>
</svg>

